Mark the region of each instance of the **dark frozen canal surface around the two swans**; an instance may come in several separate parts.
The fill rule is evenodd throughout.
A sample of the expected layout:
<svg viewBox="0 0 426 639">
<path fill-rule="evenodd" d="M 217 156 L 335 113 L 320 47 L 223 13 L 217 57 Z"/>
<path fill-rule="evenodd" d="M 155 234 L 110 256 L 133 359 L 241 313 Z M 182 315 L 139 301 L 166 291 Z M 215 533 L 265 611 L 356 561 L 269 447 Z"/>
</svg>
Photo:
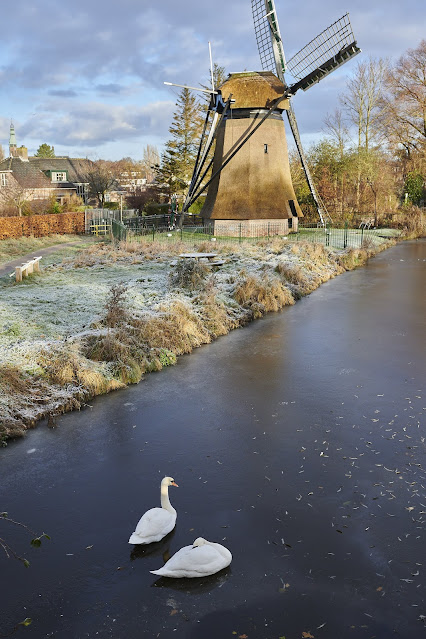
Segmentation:
<svg viewBox="0 0 426 639">
<path fill-rule="evenodd" d="M 0 451 L 0 634 L 426 637 L 426 241 Z M 175 532 L 128 537 L 174 477 Z M 204 536 L 233 553 L 157 579 Z M 305 634 L 304 634 L 305 633 Z"/>
</svg>

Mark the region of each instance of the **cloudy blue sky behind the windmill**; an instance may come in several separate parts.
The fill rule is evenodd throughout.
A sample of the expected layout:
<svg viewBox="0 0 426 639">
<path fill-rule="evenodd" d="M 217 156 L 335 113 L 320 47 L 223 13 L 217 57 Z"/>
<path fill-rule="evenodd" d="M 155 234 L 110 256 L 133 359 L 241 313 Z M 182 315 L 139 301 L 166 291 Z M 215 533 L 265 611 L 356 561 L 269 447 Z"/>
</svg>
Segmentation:
<svg viewBox="0 0 426 639">
<path fill-rule="evenodd" d="M 275 0 L 289 59 L 349 12 L 362 53 L 293 99 L 302 141 L 319 139 L 324 118 L 357 64 L 398 59 L 425 37 L 423 0 Z M 2 3 L 0 144 L 33 155 L 139 160 L 161 151 L 179 89 L 209 81 L 208 41 L 227 72 L 260 71 L 250 0 L 14 0 Z"/>
</svg>

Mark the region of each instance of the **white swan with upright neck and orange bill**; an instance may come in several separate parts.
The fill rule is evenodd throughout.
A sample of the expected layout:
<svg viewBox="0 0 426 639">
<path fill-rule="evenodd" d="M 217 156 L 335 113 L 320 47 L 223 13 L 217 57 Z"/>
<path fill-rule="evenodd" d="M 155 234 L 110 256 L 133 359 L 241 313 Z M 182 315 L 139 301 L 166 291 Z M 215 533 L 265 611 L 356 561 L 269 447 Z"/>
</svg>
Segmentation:
<svg viewBox="0 0 426 639">
<path fill-rule="evenodd" d="M 142 515 L 129 544 L 151 544 L 173 530 L 177 513 L 169 500 L 169 486 L 177 487 L 177 484 L 172 477 L 164 477 L 161 482 L 161 508 L 151 508 Z"/>
</svg>

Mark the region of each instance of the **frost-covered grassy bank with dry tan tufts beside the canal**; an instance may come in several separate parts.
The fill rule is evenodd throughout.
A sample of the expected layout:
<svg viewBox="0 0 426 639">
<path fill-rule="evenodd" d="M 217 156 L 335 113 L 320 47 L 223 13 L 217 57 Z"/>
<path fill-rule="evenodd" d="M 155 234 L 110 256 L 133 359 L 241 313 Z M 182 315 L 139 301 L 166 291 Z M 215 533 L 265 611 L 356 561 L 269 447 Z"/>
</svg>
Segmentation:
<svg viewBox="0 0 426 639">
<path fill-rule="evenodd" d="M 187 244 L 102 243 L 21 283 L 0 278 L 0 441 L 294 304 L 386 246 L 228 244 L 214 270 L 179 259 Z"/>
</svg>

